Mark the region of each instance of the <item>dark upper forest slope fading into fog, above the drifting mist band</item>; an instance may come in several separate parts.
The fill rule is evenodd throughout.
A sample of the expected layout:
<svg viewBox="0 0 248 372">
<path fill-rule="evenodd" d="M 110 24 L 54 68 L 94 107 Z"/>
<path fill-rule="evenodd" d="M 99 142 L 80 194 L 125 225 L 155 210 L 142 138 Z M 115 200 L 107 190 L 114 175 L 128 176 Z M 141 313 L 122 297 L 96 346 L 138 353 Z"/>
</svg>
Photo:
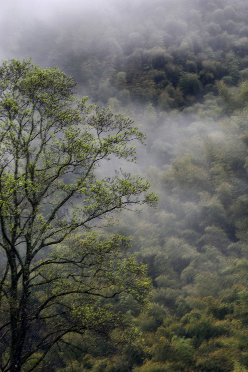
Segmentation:
<svg viewBox="0 0 248 372">
<path fill-rule="evenodd" d="M 193 1 L 187 6 L 178 0 L 175 8 L 170 1 L 156 0 L 153 6 L 140 6 L 130 6 L 128 12 L 123 4 L 111 4 L 104 17 L 96 12 L 93 18 L 86 9 L 78 11 L 69 28 L 54 22 L 49 33 L 42 23 L 26 26 L 19 36 L 10 30 L 6 54 L 25 51 L 25 57 L 33 53 L 44 65 L 58 64 L 101 105 L 118 97 L 125 105 L 138 101 L 163 110 L 184 108 L 195 97 L 215 93 L 218 80 L 236 86 L 244 77 L 248 33 L 243 2 Z M 112 15 L 120 12 L 117 27 Z M 69 24 L 70 16 L 59 23 Z M 162 84 L 154 79 L 158 71 L 165 74 Z M 162 99 L 167 84 L 180 88 L 184 97 Z M 130 101 L 119 96 L 125 89 Z"/>
</svg>

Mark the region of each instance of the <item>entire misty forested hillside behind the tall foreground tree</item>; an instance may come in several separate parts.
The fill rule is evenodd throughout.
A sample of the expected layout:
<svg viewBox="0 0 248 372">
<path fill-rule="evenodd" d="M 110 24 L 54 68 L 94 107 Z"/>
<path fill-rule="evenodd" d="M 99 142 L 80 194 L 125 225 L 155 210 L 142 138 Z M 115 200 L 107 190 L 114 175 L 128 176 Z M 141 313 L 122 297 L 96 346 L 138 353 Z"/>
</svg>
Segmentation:
<svg viewBox="0 0 248 372">
<path fill-rule="evenodd" d="M 127 237 L 125 259 L 146 265 L 142 295 L 99 301 L 118 314 L 102 320 L 105 339 L 78 334 L 71 347 L 68 335 L 21 371 L 247 372 L 248 3 L 73 4 L 24 23 L 6 10 L 1 56 L 58 66 L 78 96 L 133 119 L 147 140 L 126 169 L 148 177 L 159 202 L 95 228 L 100 242 Z M 109 164 L 97 176 L 123 161 Z"/>
</svg>

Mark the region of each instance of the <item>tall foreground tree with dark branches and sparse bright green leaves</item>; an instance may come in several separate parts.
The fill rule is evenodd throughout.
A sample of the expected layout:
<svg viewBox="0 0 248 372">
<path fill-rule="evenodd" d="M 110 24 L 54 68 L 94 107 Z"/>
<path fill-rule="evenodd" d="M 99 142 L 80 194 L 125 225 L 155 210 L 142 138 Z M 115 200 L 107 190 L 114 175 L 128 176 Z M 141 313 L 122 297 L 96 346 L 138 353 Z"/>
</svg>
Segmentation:
<svg viewBox="0 0 248 372">
<path fill-rule="evenodd" d="M 75 99 L 74 87 L 58 68 L 30 60 L 0 67 L 3 372 L 32 371 L 73 334 L 88 339 L 74 347 L 88 348 L 120 324 L 101 298 L 128 292 L 141 301 L 149 286 L 144 267 L 123 257 L 123 238 L 82 237 L 101 219 L 112 223 L 113 212 L 156 204 L 139 175 L 94 174 L 111 156 L 135 161 L 129 142 L 145 136 L 130 119 Z"/>
</svg>

